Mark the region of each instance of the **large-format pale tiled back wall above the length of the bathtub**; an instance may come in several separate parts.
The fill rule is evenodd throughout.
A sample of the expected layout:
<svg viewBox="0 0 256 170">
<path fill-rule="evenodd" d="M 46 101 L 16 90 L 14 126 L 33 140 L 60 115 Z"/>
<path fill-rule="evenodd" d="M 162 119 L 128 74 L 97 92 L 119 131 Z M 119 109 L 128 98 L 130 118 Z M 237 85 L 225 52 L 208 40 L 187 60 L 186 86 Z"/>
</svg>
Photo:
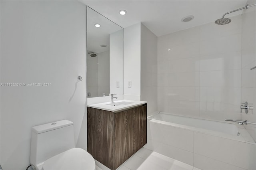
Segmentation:
<svg viewBox="0 0 256 170">
<path fill-rule="evenodd" d="M 242 16 L 158 37 L 158 111 L 241 119 Z"/>
</svg>

